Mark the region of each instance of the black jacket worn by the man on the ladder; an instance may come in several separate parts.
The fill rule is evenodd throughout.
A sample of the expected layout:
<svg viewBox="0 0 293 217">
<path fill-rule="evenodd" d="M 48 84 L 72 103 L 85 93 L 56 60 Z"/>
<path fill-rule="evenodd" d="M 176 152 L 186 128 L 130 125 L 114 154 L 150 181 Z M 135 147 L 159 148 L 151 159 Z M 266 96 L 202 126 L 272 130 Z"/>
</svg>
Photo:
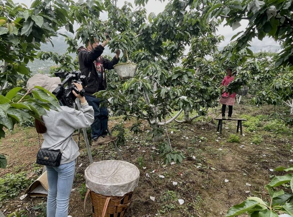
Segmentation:
<svg viewBox="0 0 293 217">
<path fill-rule="evenodd" d="M 113 66 L 119 62 L 119 58 L 105 59 L 101 57 L 104 51 L 104 47 L 98 45 L 92 51 L 87 50 L 85 47 L 81 46 L 78 48 L 78 63 L 82 75 L 85 75 L 88 79 L 88 85 L 85 87 L 85 93 L 92 95 L 100 90 L 105 90 L 107 87 L 105 69 L 113 69 Z M 99 62 L 101 64 L 101 80 L 98 78 L 98 73 L 96 70 L 95 63 Z"/>
</svg>

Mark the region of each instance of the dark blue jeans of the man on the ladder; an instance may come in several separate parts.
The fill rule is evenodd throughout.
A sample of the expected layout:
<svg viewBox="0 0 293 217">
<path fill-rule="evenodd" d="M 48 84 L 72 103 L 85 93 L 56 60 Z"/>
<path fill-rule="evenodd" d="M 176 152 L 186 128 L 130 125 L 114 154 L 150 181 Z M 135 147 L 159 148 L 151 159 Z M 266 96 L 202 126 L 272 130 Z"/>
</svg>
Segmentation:
<svg viewBox="0 0 293 217">
<path fill-rule="evenodd" d="M 100 99 L 97 99 L 90 95 L 85 95 L 85 99 L 90 106 L 93 106 L 95 120 L 91 125 L 92 128 L 92 139 L 95 140 L 100 136 L 107 135 L 108 127 L 108 109 L 106 107 L 100 108 Z"/>
</svg>

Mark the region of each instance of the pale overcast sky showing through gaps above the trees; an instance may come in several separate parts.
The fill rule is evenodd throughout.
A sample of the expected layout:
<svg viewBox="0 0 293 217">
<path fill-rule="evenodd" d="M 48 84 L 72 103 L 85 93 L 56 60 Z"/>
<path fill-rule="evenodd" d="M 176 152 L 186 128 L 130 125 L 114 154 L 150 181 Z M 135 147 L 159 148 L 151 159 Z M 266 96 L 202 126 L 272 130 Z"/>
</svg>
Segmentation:
<svg viewBox="0 0 293 217">
<path fill-rule="evenodd" d="M 124 5 L 124 1 L 125 0 L 118 0 L 117 1 L 117 6 L 121 7 Z M 24 3 L 27 6 L 31 5 L 31 0 L 13 0 L 13 2 L 19 2 L 19 3 Z M 127 2 L 131 2 L 133 7 L 135 8 L 134 5 L 134 0 L 127 0 Z M 165 2 L 160 2 L 160 1 L 156 1 L 156 0 L 149 0 L 148 3 L 146 4 L 146 10 L 147 13 L 155 13 L 158 14 L 161 11 L 164 10 L 166 4 L 167 4 L 168 0 L 166 0 Z M 103 18 L 107 18 L 106 14 L 102 14 L 101 15 L 101 19 Z M 227 45 L 230 42 L 230 39 L 233 35 L 235 35 L 237 32 L 245 30 L 245 27 L 247 26 L 248 21 L 247 20 L 241 20 L 241 27 L 239 27 L 238 29 L 232 31 L 232 28 L 229 26 L 224 27 L 224 24 L 222 24 L 219 29 L 218 29 L 218 35 L 224 35 L 225 36 L 225 40 L 219 45 L 220 47 L 223 47 L 225 45 Z M 253 45 L 257 45 L 257 46 L 264 46 L 264 45 L 279 45 L 279 43 L 276 43 L 273 39 L 270 39 L 268 37 L 264 38 L 262 41 L 256 39 L 253 39 L 252 41 Z"/>
</svg>

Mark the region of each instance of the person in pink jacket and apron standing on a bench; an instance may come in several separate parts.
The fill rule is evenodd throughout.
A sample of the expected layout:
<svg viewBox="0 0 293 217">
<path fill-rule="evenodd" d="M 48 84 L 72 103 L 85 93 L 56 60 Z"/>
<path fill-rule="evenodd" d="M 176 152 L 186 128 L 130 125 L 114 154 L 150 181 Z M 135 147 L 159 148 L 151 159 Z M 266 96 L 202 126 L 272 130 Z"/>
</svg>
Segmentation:
<svg viewBox="0 0 293 217">
<path fill-rule="evenodd" d="M 232 68 L 227 68 L 227 76 L 222 81 L 222 85 L 228 86 L 228 84 L 233 81 L 235 76 L 232 74 Z M 220 103 L 222 104 L 222 118 L 225 118 L 225 112 L 226 112 L 226 106 L 229 106 L 228 111 L 228 119 L 232 118 L 232 112 L 233 112 L 233 105 L 235 103 L 235 96 L 236 93 L 230 94 L 229 92 L 224 92 L 221 96 Z"/>
</svg>

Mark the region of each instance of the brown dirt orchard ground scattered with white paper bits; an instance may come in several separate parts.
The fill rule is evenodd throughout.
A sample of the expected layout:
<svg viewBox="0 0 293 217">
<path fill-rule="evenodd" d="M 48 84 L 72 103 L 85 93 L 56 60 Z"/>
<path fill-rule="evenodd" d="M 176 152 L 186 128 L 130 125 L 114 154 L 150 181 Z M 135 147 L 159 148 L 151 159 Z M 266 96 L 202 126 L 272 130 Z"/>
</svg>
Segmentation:
<svg viewBox="0 0 293 217">
<path fill-rule="evenodd" d="M 257 108 L 250 105 L 234 106 L 234 117 L 241 114 L 250 116 L 270 115 L 274 107 Z M 138 166 L 140 170 L 139 185 L 135 189 L 130 208 L 126 216 L 186 216 L 214 217 L 225 216 L 227 210 L 248 196 L 265 198 L 267 193 L 263 186 L 270 182 L 270 171 L 277 166 L 289 166 L 293 158 L 293 136 L 291 133 L 265 131 L 263 126 L 269 120 L 262 121 L 255 131 L 243 127 L 244 136 L 240 143 L 227 142 L 231 134 L 236 134 L 236 122 L 224 121 L 223 134 L 216 132 L 217 123 L 212 118 L 219 116 L 219 108 L 211 110 L 208 117 L 199 118 L 190 124 L 172 122 L 167 126 L 173 148 L 182 150 L 187 157 L 180 166 L 165 165 L 152 143 L 147 124 L 142 125 L 142 133 L 126 133 L 126 145 L 119 147 L 125 161 Z M 110 118 L 110 126 L 120 123 L 119 118 Z M 127 121 L 130 127 L 133 121 Z M 261 138 L 261 143 L 252 143 L 253 138 Z M 165 138 L 167 141 L 167 139 Z M 17 128 L 1 139 L 0 153 L 7 154 L 8 166 L 0 170 L 2 177 L 6 173 L 27 171 L 40 173 L 41 168 L 34 164 L 38 150 L 38 137 L 34 128 Z M 105 150 L 104 150 L 105 148 Z M 83 144 L 80 148 L 79 165 L 70 196 L 69 215 L 83 216 L 83 200 L 80 189 L 85 182 L 84 170 L 89 165 Z M 93 150 L 94 161 L 119 159 L 112 144 Z M 146 169 L 143 169 L 143 167 Z M 155 170 L 154 173 L 152 171 Z M 146 173 L 150 177 L 146 176 Z M 159 178 L 164 175 L 165 178 Z M 173 181 L 177 182 L 176 186 Z M 40 211 L 32 209 L 46 198 L 25 198 L 19 194 L 14 199 L 2 201 L 0 210 L 5 215 L 15 210 L 27 210 L 26 215 L 43 216 Z M 150 199 L 155 197 L 155 201 Z M 183 199 L 180 205 L 178 199 Z M 87 200 L 86 216 L 91 216 L 90 201 Z"/>
</svg>

